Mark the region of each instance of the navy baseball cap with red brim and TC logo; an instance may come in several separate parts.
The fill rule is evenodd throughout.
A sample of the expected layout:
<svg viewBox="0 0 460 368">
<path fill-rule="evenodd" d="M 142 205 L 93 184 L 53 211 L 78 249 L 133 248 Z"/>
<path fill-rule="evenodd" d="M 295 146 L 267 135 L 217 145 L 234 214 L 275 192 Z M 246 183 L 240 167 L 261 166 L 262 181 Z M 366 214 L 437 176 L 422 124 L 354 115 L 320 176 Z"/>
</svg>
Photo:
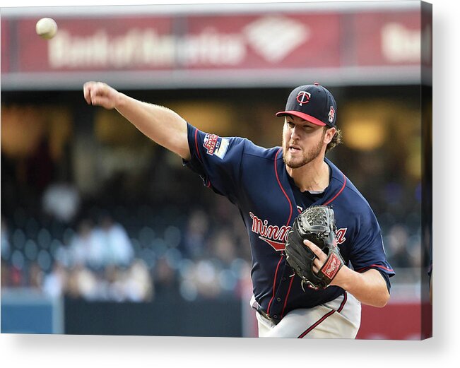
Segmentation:
<svg viewBox="0 0 460 368">
<path fill-rule="evenodd" d="M 334 96 L 319 83 L 300 85 L 288 97 L 285 111 L 277 117 L 294 115 L 320 126 L 336 126 L 337 104 Z"/>
</svg>

